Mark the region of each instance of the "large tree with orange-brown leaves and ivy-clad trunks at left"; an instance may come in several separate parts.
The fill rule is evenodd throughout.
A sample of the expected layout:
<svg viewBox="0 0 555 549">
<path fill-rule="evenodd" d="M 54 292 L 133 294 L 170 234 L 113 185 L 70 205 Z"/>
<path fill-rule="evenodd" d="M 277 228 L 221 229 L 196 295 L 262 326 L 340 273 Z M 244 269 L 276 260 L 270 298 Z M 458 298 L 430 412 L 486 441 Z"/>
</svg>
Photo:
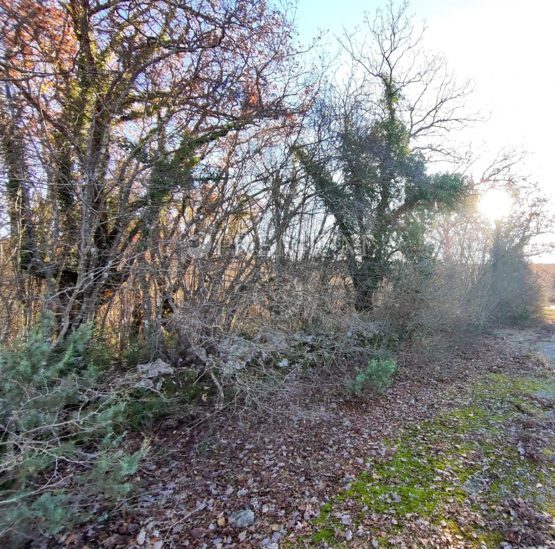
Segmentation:
<svg viewBox="0 0 555 549">
<path fill-rule="evenodd" d="M 221 174 L 203 171 L 212 144 L 260 121 L 282 128 L 304 109 L 287 14 L 256 0 L 0 10 L 1 158 L 21 300 L 32 301 L 31 277 L 61 337 L 133 272 L 143 320 L 157 318 L 145 264 L 181 228 L 165 226 L 171 208 L 190 212 L 191 227 L 223 199 Z"/>
</svg>

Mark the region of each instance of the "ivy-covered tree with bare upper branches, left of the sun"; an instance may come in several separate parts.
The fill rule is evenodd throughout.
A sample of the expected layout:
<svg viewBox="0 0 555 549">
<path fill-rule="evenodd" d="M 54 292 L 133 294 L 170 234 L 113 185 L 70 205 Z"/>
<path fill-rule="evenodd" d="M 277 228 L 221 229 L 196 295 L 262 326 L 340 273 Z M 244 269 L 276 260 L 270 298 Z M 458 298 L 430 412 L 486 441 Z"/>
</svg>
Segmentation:
<svg viewBox="0 0 555 549">
<path fill-rule="evenodd" d="M 359 310 L 374 307 L 396 258 L 425 256 L 426 216 L 453 207 L 471 187 L 462 174 L 428 172 L 438 153 L 450 154 L 446 132 L 476 119 L 464 108 L 471 84 L 458 86 L 443 58 L 419 49 L 422 34 L 406 11 L 406 3 L 389 3 L 374 21 L 366 15 L 362 38 L 341 39 L 349 79 L 322 99 L 317 139 L 299 150 L 347 243 Z"/>
</svg>

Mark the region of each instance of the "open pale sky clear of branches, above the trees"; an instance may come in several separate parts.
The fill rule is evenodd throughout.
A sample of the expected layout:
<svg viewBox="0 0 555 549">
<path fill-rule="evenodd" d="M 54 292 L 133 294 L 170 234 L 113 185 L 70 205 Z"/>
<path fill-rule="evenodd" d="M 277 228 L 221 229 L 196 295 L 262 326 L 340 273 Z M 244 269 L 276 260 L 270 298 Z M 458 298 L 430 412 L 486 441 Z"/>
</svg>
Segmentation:
<svg viewBox="0 0 555 549">
<path fill-rule="evenodd" d="M 298 0 L 297 26 L 302 42 L 329 29 L 327 49 L 337 50 L 334 36 L 343 26 L 354 29 L 362 15 L 372 17 L 386 0 Z M 398 3 L 397 3 L 398 4 Z M 473 148 L 491 151 L 523 147 L 530 154 L 519 170 L 555 194 L 555 2 L 549 0 L 413 0 L 407 13 L 413 23 L 425 20 L 424 46 L 444 53 L 460 81 L 471 78 L 476 92 L 471 108 L 491 112 L 486 123 L 457 134 Z M 476 174 L 479 175 L 479 174 Z M 544 257 L 544 261 L 555 261 Z"/>
</svg>

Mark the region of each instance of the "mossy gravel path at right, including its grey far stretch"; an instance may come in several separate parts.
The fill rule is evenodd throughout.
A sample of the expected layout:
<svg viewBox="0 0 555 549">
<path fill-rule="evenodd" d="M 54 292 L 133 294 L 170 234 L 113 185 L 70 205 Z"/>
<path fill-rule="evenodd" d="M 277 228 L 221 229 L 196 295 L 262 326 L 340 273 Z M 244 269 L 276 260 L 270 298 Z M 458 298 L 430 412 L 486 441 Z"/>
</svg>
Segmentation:
<svg viewBox="0 0 555 549">
<path fill-rule="evenodd" d="M 451 406 L 400 428 L 321 508 L 313 542 L 555 547 L 555 336 L 507 330 L 484 343 Z"/>
</svg>

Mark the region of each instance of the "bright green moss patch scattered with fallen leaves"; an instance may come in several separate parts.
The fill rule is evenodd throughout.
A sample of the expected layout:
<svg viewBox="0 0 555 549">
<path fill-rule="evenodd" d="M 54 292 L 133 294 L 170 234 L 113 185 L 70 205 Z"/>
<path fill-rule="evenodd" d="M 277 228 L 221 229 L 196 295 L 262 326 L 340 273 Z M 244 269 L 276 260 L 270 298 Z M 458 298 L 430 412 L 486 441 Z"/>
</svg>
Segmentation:
<svg viewBox="0 0 555 549">
<path fill-rule="evenodd" d="M 332 505 L 359 510 L 351 530 L 377 516 L 366 532 L 379 546 L 399 533 L 417 536 L 411 528 L 422 518 L 447 542 L 498 547 L 514 526 L 512 514 L 499 506 L 510 498 L 555 515 L 555 437 L 544 428 L 555 420 L 555 380 L 491 374 L 453 401 L 461 404 L 385 441 L 385 456 L 369 460 L 368 471 L 322 507 L 313 543 L 333 545 L 345 528 Z M 454 515 L 466 519 L 457 523 Z M 546 532 L 555 541 L 555 532 Z M 419 545 L 417 537 L 413 543 Z"/>
</svg>

